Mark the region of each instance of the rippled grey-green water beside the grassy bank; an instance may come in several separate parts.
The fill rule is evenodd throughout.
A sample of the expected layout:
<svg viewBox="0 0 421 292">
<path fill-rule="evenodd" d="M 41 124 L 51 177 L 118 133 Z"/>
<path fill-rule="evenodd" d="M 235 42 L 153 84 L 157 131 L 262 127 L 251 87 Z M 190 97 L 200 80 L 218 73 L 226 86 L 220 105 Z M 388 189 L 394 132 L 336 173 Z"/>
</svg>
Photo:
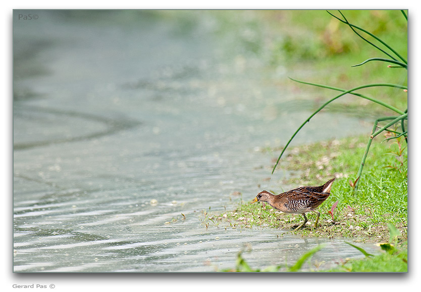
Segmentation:
<svg viewBox="0 0 421 292">
<path fill-rule="evenodd" d="M 279 189 L 289 174 L 267 180 L 278 154 L 260 150 L 311 111 L 280 82 L 315 73 L 247 46 L 261 41 L 251 12 L 224 25 L 194 11 L 36 13 L 14 15 L 15 272 L 215 271 L 248 249 L 264 268 L 322 243 L 320 268 L 363 257 L 343 240 L 201 224 L 201 210 L 233 208 L 233 192 Z M 294 143 L 369 128 L 321 112 Z"/>
</svg>

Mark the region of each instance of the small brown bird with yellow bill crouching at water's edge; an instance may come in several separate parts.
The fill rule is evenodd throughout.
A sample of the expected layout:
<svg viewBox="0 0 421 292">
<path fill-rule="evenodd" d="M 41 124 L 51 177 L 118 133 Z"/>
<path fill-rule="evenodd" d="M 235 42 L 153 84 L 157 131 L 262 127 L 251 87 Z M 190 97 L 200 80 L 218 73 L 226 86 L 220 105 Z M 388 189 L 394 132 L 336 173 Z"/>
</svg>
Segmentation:
<svg viewBox="0 0 421 292">
<path fill-rule="evenodd" d="M 262 191 L 250 202 L 253 204 L 257 201 L 267 202 L 273 208 L 284 213 L 302 214 L 304 222 L 300 224 L 294 231 L 297 231 L 307 223 L 306 212 L 317 213 L 317 219 L 314 228 L 317 228 L 320 212 L 315 208 L 320 206 L 330 195 L 332 184 L 335 178 L 328 180 L 325 184 L 317 187 L 299 187 L 279 195 L 274 195 L 268 191 Z"/>
</svg>

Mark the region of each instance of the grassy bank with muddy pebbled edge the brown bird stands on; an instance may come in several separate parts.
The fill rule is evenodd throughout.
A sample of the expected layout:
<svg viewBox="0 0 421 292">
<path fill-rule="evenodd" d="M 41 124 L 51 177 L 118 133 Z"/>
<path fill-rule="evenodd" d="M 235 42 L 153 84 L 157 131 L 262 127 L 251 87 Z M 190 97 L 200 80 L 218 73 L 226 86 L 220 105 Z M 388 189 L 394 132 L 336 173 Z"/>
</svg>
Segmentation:
<svg viewBox="0 0 421 292">
<path fill-rule="evenodd" d="M 291 150 L 279 168 L 293 172 L 279 182 L 279 190 L 302 185 L 321 185 L 336 177 L 330 197 L 319 207 L 319 227 L 313 228 L 315 214 L 297 231 L 302 236 L 352 238 L 355 242 L 386 242 L 388 224 L 407 236 L 407 150 L 403 139 L 384 141 L 379 137 L 367 157 L 357 191 L 352 187 L 364 152 L 366 136 L 303 145 Z M 278 149 L 263 150 L 276 156 Z M 242 198 L 236 208 L 222 214 L 206 214 L 205 221 L 224 228 L 277 228 L 291 230 L 303 221 L 300 214 L 281 213 L 265 203 L 250 204 Z M 332 210 L 337 202 L 336 207 Z M 332 214 L 329 213 L 331 211 Z"/>
</svg>

